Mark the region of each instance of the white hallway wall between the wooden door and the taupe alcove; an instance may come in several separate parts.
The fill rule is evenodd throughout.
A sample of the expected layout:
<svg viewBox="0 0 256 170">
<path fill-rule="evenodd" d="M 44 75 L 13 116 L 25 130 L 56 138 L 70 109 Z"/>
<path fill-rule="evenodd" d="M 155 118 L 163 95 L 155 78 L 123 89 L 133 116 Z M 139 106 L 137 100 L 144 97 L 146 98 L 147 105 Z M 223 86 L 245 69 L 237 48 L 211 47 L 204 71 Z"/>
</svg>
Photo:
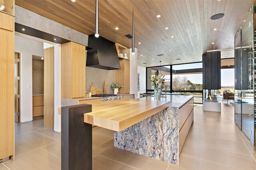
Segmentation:
<svg viewBox="0 0 256 170">
<path fill-rule="evenodd" d="M 32 55 L 44 56 L 44 44 L 15 36 L 15 52 L 20 59 L 20 121 L 32 121 Z"/>
</svg>

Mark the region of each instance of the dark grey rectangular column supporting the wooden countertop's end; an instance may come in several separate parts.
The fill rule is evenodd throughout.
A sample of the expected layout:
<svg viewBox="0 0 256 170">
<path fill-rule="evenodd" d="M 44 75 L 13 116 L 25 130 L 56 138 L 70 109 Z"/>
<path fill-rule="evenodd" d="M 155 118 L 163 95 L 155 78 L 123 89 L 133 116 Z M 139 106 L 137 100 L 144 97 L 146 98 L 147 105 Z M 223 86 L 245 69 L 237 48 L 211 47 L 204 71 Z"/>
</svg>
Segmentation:
<svg viewBox="0 0 256 170">
<path fill-rule="evenodd" d="M 92 105 L 61 108 L 61 169 L 92 170 L 92 125 L 84 123 L 84 113 Z"/>
</svg>

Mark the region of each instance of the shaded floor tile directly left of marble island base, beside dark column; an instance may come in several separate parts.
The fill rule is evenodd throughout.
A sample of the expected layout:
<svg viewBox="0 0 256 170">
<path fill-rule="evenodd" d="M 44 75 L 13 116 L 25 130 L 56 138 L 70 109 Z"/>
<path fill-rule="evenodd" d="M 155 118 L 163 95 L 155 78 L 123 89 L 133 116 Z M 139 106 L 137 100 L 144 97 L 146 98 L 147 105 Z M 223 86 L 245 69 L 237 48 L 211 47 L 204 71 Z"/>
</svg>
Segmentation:
<svg viewBox="0 0 256 170">
<path fill-rule="evenodd" d="M 92 133 L 92 146 L 105 150 L 112 145 L 114 145 L 114 136 L 109 137 L 98 133 Z"/>
</svg>

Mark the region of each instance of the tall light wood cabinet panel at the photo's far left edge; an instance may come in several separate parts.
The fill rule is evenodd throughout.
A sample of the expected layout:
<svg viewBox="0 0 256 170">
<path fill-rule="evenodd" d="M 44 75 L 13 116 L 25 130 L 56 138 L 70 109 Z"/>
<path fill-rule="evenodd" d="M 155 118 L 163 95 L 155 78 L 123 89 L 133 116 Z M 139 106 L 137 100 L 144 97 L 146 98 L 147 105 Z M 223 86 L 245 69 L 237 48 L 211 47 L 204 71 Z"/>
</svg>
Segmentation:
<svg viewBox="0 0 256 170">
<path fill-rule="evenodd" d="M 0 18 L 0 159 L 14 160 L 14 17 Z"/>
</svg>

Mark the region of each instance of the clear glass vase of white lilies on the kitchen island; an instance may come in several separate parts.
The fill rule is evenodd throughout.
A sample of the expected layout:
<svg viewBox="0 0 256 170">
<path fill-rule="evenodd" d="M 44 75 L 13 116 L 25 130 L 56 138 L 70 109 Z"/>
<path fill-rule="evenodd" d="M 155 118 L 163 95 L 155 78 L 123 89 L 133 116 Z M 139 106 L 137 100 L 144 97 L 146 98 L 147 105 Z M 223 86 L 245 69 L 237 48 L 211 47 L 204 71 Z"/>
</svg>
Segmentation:
<svg viewBox="0 0 256 170">
<path fill-rule="evenodd" d="M 161 99 L 161 92 L 164 89 L 164 75 L 160 73 L 160 75 L 155 75 L 152 78 L 149 77 L 152 86 L 154 87 L 154 99 L 160 100 Z"/>
</svg>

